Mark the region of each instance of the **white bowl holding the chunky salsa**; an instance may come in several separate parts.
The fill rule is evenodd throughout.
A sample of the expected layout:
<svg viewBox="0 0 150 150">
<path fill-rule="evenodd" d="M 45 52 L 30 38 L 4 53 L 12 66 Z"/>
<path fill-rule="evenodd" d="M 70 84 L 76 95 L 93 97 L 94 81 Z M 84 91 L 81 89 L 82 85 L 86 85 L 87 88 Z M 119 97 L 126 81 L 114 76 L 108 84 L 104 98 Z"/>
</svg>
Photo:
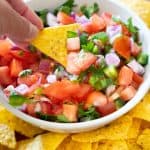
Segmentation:
<svg viewBox="0 0 150 150">
<path fill-rule="evenodd" d="M 53 10 L 60 4 L 62 4 L 66 0 L 26 0 L 28 5 L 33 8 L 34 10 L 40 10 L 44 8 L 49 8 Z M 123 20 L 127 20 L 129 17 L 133 17 L 133 22 L 137 25 L 140 29 L 140 39 L 143 42 L 143 49 L 150 55 L 150 32 L 148 28 L 145 26 L 143 21 L 134 14 L 131 10 L 128 10 L 126 6 L 116 2 L 115 0 L 76 0 L 76 4 L 83 5 L 83 4 L 93 4 L 97 2 L 100 6 L 100 11 L 108 11 L 115 15 L 120 15 Z M 0 102 L 14 115 L 21 118 L 22 120 L 29 122 L 35 126 L 43 128 L 45 130 L 54 131 L 54 132 L 68 132 L 68 133 L 77 133 L 77 132 L 84 132 L 93 130 L 99 127 L 102 127 L 113 120 L 117 119 L 118 117 L 124 115 L 129 110 L 131 110 L 136 104 L 140 102 L 140 100 L 144 97 L 146 92 L 150 87 L 150 63 L 146 67 L 146 73 L 144 75 L 144 82 L 140 86 L 139 90 L 137 91 L 135 97 L 129 101 L 124 107 L 119 109 L 118 111 L 96 120 L 81 122 L 81 123 L 55 123 L 55 122 L 48 122 L 43 121 L 40 119 L 33 118 L 29 115 L 26 115 L 19 110 L 13 108 L 7 103 L 7 98 L 2 91 L 0 91 Z"/>
</svg>

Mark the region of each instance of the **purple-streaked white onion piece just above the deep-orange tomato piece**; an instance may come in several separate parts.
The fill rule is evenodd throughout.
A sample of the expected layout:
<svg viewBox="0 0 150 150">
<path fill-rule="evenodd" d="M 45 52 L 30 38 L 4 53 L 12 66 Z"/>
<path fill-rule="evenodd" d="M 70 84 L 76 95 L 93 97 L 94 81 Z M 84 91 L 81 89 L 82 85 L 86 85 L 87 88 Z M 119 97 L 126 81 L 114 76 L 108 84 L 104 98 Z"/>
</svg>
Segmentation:
<svg viewBox="0 0 150 150">
<path fill-rule="evenodd" d="M 110 43 L 113 43 L 113 41 L 122 34 L 122 27 L 121 25 L 108 26 L 106 29 L 106 33 L 109 36 Z"/>
</svg>

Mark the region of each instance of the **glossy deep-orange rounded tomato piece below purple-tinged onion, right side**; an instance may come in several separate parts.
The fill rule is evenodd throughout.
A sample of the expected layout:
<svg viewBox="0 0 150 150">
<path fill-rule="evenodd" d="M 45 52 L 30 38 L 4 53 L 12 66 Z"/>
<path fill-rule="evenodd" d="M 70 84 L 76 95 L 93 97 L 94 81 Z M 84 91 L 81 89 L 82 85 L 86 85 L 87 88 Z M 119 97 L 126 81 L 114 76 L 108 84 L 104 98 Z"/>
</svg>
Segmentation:
<svg viewBox="0 0 150 150">
<path fill-rule="evenodd" d="M 123 58 L 129 59 L 131 55 L 131 41 L 128 36 L 121 36 L 113 43 L 114 50 Z"/>
</svg>

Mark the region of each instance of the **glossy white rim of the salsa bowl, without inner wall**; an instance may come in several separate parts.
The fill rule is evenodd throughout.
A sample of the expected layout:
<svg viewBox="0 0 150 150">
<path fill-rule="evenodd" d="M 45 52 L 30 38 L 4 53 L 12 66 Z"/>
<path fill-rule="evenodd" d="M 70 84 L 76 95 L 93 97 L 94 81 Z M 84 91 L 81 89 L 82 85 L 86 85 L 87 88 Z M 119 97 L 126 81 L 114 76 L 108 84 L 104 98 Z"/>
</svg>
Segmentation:
<svg viewBox="0 0 150 150">
<path fill-rule="evenodd" d="M 27 0 L 27 1 L 30 1 L 30 0 Z M 115 0 L 107 0 L 107 1 L 109 1 L 110 3 L 113 3 L 114 5 L 127 11 L 132 17 L 134 17 L 136 20 L 138 20 L 140 22 L 140 24 L 144 28 L 145 33 L 146 32 L 150 33 L 149 29 L 146 27 L 146 25 L 142 21 L 142 19 L 140 19 L 140 17 L 137 14 L 135 14 L 132 10 L 125 7 L 122 2 L 118 2 Z M 147 34 L 147 36 L 150 39 L 150 34 L 149 35 Z M 150 49 L 150 45 L 148 48 Z M 4 99 L 4 100 L 0 100 L 0 102 L 2 103 L 2 105 L 4 105 L 6 107 L 6 109 L 8 111 L 12 112 L 18 118 L 20 118 L 26 122 L 29 122 L 34 125 L 37 124 L 37 126 L 44 128 L 44 129 L 46 129 L 48 127 L 48 128 L 54 128 L 57 131 L 65 130 L 65 132 L 70 132 L 70 133 L 72 132 L 71 130 L 73 130 L 73 131 L 76 130 L 75 132 L 77 133 L 77 132 L 80 132 L 78 130 L 82 130 L 82 129 L 84 130 L 84 128 L 92 128 L 94 125 L 97 125 L 97 127 L 100 126 L 101 124 L 106 125 L 107 123 L 109 123 L 113 120 L 116 120 L 117 118 L 126 114 L 129 110 L 131 110 L 133 107 L 135 107 L 135 105 L 137 105 L 142 100 L 144 95 L 148 92 L 149 87 L 150 87 L 150 78 L 148 78 L 146 81 L 144 81 L 142 85 L 143 85 L 142 89 L 144 88 L 144 90 L 142 90 L 142 92 L 140 92 L 139 91 L 140 88 L 139 88 L 136 96 L 131 101 L 129 101 L 125 106 L 123 106 L 119 110 L 116 110 L 115 112 L 113 112 L 105 117 L 98 118 L 95 120 L 90 120 L 87 122 L 57 123 L 57 122 L 50 122 L 50 121 L 45 121 L 45 120 L 40 120 L 40 119 L 34 118 L 30 115 L 27 115 L 27 114 L 17 110 L 13 106 L 9 105 L 7 103 L 7 101 L 5 102 L 7 97 L 4 95 L 2 90 L 0 90 L 0 99 Z M 88 129 L 88 130 L 90 130 L 90 129 Z"/>
</svg>

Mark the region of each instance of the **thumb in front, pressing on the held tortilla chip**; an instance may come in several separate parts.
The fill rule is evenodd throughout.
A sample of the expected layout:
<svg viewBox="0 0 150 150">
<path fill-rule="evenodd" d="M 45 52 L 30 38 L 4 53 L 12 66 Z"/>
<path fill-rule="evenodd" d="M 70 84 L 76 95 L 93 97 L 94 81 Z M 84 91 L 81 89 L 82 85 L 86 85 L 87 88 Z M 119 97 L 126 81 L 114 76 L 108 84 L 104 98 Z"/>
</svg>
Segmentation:
<svg viewBox="0 0 150 150">
<path fill-rule="evenodd" d="M 19 15 L 7 1 L 0 1 L 0 35 L 7 34 L 14 42 L 29 42 L 38 34 L 38 29 Z"/>
</svg>

